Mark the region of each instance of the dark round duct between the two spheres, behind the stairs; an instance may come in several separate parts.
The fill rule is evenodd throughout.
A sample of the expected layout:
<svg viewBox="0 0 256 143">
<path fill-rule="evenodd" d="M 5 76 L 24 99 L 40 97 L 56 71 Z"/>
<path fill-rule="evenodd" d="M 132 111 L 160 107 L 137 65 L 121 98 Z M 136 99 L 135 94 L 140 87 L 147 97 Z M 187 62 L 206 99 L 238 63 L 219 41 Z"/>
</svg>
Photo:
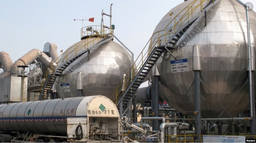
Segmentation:
<svg viewBox="0 0 256 143">
<path fill-rule="evenodd" d="M 148 87 L 138 88 L 137 96 L 136 96 L 137 103 L 151 100 L 151 97 L 152 97 L 151 85 L 149 85 Z M 161 98 L 161 96 L 159 96 L 159 101 L 164 101 L 164 99 Z"/>
</svg>

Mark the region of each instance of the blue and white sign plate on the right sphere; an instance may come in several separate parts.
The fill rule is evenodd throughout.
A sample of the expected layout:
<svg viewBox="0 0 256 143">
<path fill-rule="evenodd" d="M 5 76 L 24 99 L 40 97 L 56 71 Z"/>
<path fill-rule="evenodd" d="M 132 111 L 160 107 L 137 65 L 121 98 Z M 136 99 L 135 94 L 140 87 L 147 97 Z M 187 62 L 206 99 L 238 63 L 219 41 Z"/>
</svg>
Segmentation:
<svg viewBox="0 0 256 143">
<path fill-rule="evenodd" d="M 171 61 L 172 73 L 187 72 L 188 71 L 188 59 Z"/>
</svg>

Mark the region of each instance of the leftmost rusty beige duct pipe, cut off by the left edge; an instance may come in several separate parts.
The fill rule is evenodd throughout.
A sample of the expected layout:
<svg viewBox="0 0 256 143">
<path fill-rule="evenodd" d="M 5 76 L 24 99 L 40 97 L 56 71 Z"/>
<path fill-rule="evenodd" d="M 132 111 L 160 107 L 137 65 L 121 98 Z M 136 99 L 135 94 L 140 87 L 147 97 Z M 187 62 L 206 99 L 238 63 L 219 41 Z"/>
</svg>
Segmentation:
<svg viewBox="0 0 256 143">
<path fill-rule="evenodd" d="M 13 65 L 13 61 L 10 58 L 10 55 L 8 53 L 0 52 L 0 65 L 3 66 L 4 72 L 8 72 L 8 73 L 11 72 L 11 67 Z"/>
</svg>

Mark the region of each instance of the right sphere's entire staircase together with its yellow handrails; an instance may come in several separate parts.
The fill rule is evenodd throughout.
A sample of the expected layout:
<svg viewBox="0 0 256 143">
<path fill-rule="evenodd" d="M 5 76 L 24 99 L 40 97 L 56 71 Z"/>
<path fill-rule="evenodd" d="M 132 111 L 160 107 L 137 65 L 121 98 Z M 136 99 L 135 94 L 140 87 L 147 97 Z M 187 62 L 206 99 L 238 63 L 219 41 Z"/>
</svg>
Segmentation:
<svg viewBox="0 0 256 143">
<path fill-rule="evenodd" d="M 126 74 L 126 77 L 119 84 L 119 87 L 116 89 L 111 99 L 119 109 L 121 117 L 125 115 L 127 110 L 129 110 L 129 103 L 133 101 L 138 87 L 143 83 L 143 80 L 146 78 L 150 70 L 156 64 L 162 53 L 166 49 L 168 50 L 169 53 L 169 49 L 176 49 L 175 45 L 178 42 L 178 40 L 188 30 L 188 28 L 197 20 L 197 18 L 219 2 L 219 0 L 200 0 L 200 4 L 195 4 L 196 1 L 197 0 L 192 1 L 186 8 L 184 8 L 181 11 L 184 11 L 185 14 L 178 20 L 178 22 L 176 22 L 176 17 L 180 16 L 179 14 L 181 12 L 178 13 L 178 15 L 175 18 L 173 18 L 173 20 L 175 20 L 175 24 L 172 27 L 169 28 L 168 26 L 173 20 L 170 21 L 170 23 L 165 27 L 164 30 L 158 31 L 152 35 L 152 37 L 154 35 L 162 35 L 162 33 L 165 32 L 165 34 L 163 34 L 162 36 L 157 36 L 157 38 L 155 39 L 151 37 L 147 45 L 144 47 L 144 49 L 146 50 L 144 51 L 143 49 L 136 60 L 139 62 L 139 64 L 137 66 L 133 64 L 131 67 L 131 69 L 135 68 L 138 70 L 137 72 L 135 72 L 135 76 L 133 73 L 131 73 L 131 71 L 133 70 L 130 69 L 129 72 Z M 203 7 L 204 2 L 207 2 L 205 7 Z M 193 12 L 199 6 L 201 8 L 201 11 L 196 16 L 193 16 Z M 190 17 L 191 19 L 189 19 Z M 179 23 L 181 24 L 178 26 Z M 159 34 L 160 32 L 162 33 Z M 161 41 L 164 41 L 165 44 L 162 45 Z M 146 47 L 148 47 L 148 49 Z M 145 53 L 144 55 L 143 52 Z M 142 59 L 138 60 L 141 57 Z M 143 58 L 145 60 L 143 60 Z M 127 108 L 123 110 L 124 107 Z"/>
</svg>

